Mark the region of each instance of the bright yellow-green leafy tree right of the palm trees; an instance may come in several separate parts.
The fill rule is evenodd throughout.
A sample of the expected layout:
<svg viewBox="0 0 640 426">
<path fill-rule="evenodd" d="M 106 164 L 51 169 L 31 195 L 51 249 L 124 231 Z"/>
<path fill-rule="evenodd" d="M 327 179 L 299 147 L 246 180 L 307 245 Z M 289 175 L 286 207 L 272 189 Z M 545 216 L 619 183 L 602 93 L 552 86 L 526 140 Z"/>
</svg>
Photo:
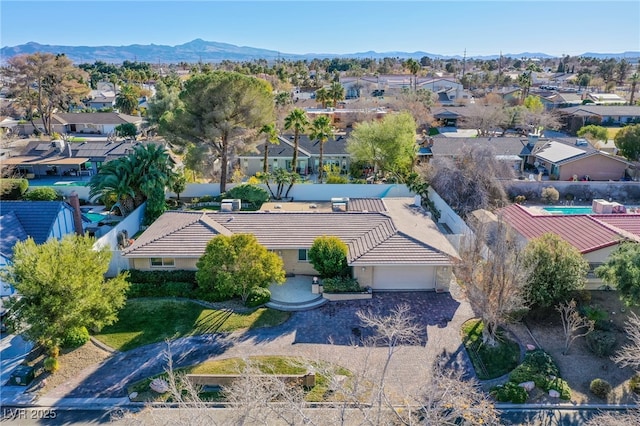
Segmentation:
<svg viewBox="0 0 640 426">
<path fill-rule="evenodd" d="M 418 152 L 413 116 L 405 111 L 387 114 L 382 121 L 356 124 L 347 139 L 347 152 L 354 161 L 371 164 L 376 173 L 403 180 Z"/>
</svg>

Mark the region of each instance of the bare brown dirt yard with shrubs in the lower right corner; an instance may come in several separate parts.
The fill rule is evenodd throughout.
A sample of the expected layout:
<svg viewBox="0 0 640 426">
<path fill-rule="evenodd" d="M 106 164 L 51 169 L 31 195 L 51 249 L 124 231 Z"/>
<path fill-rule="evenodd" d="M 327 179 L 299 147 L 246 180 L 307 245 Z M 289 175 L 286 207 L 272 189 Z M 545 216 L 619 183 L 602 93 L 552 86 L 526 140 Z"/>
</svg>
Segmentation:
<svg viewBox="0 0 640 426">
<path fill-rule="evenodd" d="M 616 335 L 616 348 L 627 342 L 624 332 L 625 321 L 629 308 L 620 302 L 616 292 L 592 291 L 590 301 L 582 305 L 597 307 L 608 313 L 610 331 Z M 632 308 L 640 312 L 640 308 Z M 571 387 L 571 402 L 584 403 L 633 403 L 634 395 L 629 392 L 629 379 L 633 376 L 631 368 L 620 368 L 609 357 L 598 357 L 588 348 L 585 338 L 578 338 L 573 342 L 568 355 L 563 355 L 564 333 L 560 321 L 560 314 L 550 309 L 546 315 L 528 316 L 525 324 L 538 344 L 555 360 L 562 378 Z M 523 331 L 514 332 L 520 334 Z M 523 336 L 523 338 L 526 336 Z M 589 390 L 593 379 L 600 378 L 609 382 L 613 391 L 607 401 L 594 396 Z M 544 402 L 548 397 L 544 394 L 534 394 L 529 402 Z"/>
</svg>

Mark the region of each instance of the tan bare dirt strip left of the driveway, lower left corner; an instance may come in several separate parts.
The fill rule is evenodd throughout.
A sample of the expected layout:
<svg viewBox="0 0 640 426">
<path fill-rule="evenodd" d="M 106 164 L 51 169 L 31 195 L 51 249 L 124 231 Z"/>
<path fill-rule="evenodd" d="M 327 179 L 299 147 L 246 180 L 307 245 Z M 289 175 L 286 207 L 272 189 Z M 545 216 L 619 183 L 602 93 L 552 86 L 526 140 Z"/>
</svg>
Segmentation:
<svg viewBox="0 0 640 426">
<path fill-rule="evenodd" d="M 29 391 L 44 395 L 61 384 L 76 378 L 82 370 L 95 366 L 110 356 L 109 352 L 100 349 L 92 342 L 88 342 L 77 349 L 62 350 L 58 358 L 60 369 L 54 374 L 50 374 L 44 369 L 46 354 L 36 350 L 27 358 L 28 364 L 35 367 L 36 371 L 36 379 L 29 387 Z"/>
</svg>

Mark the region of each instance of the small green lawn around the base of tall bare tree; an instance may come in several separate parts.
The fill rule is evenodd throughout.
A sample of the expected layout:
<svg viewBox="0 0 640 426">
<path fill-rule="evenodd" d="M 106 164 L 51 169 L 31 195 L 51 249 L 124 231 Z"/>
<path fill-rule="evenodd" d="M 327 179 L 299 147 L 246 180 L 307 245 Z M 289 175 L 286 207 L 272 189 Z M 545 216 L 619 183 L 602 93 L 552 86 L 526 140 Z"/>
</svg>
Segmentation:
<svg viewBox="0 0 640 426">
<path fill-rule="evenodd" d="M 480 380 L 495 379 L 513 370 L 520 362 L 520 346 L 499 332 L 499 343 L 482 343 L 482 321 L 473 319 L 462 325 L 462 341 Z"/>
</svg>

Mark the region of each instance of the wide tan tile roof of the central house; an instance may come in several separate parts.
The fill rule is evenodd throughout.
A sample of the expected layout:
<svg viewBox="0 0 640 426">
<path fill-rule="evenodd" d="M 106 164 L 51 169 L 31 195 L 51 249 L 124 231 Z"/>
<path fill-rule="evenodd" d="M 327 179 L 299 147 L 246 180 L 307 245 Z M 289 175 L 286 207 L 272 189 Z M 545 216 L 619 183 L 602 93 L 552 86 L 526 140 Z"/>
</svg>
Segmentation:
<svg viewBox="0 0 640 426">
<path fill-rule="evenodd" d="M 372 201 L 370 201 L 373 203 Z M 383 204 L 384 205 L 384 204 Z M 136 257 L 199 257 L 216 234 L 248 233 L 271 250 L 309 248 L 316 237 L 333 235 L 349 247 L 348 261 L 360 263 L 450 264 L 434 246 L 399 233 L 386 214 L 324 212 L 164 213 L 128 248 Z M 407 254 L 405 251 L 412 251 Z"/>
</svg>

